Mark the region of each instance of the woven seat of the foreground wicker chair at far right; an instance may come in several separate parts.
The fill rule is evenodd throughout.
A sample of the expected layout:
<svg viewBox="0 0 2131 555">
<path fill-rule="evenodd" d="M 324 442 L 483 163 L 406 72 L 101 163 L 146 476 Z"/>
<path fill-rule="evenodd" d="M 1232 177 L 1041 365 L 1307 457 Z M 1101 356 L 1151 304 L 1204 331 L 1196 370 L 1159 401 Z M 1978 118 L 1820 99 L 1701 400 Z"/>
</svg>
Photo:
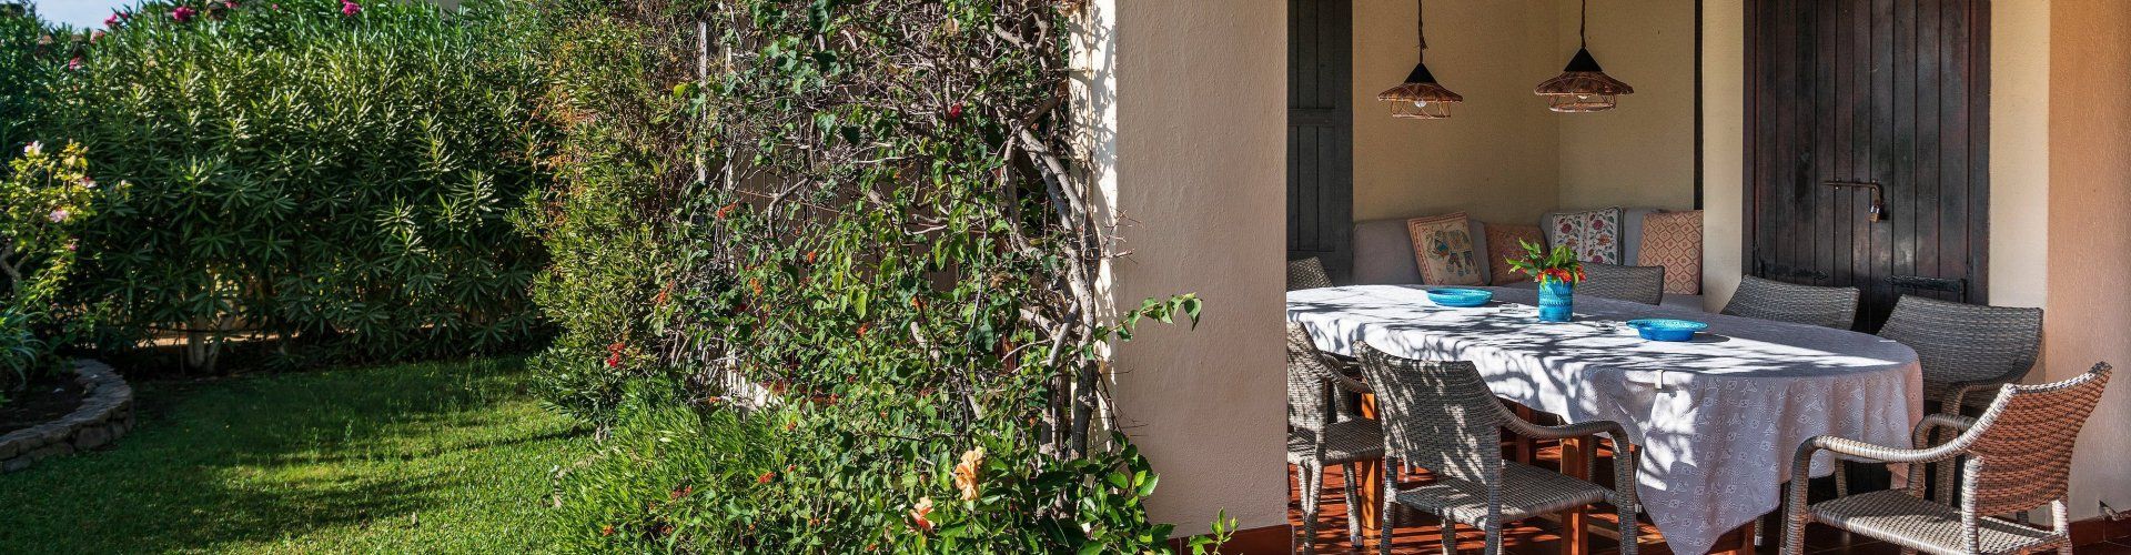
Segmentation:
<svg viewBox="0 0 2131 555">
<path fill-rule="evenodd" d="M 1886 489 L 1813 504 L 1813 519 L 1926 553 L 1969 553 L 1961 544 L 1961 512 L 1946 504 Z M 2018 553 L 2063 542 L 2050 529 L 2003 519 L 1975 519 L 1982 553 Z"/>
</svg>

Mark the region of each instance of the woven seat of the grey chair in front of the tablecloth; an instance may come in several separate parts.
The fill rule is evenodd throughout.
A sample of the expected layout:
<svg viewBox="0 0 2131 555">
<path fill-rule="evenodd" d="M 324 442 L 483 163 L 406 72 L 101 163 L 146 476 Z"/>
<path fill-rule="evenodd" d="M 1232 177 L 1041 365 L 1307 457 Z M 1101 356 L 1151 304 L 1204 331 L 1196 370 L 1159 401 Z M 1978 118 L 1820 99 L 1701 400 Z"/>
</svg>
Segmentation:
<svg viewBox="0 0 2131 555">
<path fill-rule="evenodd" d="M 1502 461 L 1504 523 L 1605 502 L 1611 493 L 1611 489 L 1553 470 Z M 1396 500 L 1466 525 L 1483 525 L 1487 519 L 1487 487 L 1443 474 L 1424 487 L 1400 489 Z"/>
</svg>

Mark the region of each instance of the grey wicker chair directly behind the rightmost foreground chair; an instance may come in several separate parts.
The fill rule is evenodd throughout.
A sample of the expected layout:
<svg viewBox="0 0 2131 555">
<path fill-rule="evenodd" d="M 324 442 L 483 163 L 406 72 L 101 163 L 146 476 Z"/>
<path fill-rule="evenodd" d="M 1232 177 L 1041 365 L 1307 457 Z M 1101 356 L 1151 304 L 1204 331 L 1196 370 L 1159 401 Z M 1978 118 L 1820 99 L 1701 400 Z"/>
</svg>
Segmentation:
<svg viewBox="0 0 2131 555">
<path fill-rule="evenodd" d="M 2041 350 L 2039 307 L 1986 307 L 1924 297 L 1901 297 L 1880 337 L 1916 350 L 1924 367 L 1924 401 L 1941 414 L 1961 414 L 1969 393 L 1997 391 L 2027 378 Z M 1988 403 L 1988 399 L 1973 399 Z M 1926 438 L 1929 440 L 1929 438 Z M 1939 470 L 1939 500 L 1952 493 L 1954 470 Z M 1848 491 L 1848 485 L 1837 485 Z"/>
</svg>

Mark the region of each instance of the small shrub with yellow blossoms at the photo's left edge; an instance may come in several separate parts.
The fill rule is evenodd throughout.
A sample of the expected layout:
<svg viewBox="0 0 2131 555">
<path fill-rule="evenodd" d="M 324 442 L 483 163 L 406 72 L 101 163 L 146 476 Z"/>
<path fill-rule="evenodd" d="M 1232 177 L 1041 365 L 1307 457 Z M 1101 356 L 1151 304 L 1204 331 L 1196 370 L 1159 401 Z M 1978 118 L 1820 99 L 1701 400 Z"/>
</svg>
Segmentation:
<svg viewBox="0 0 2131 555">
<path fill-rule="evenodd" d="M 23 145 L 0 173 L 0 401 L 32 374 L 60 367 L 55 350 L 81 335 L 81 305 L 62 303 L 77 235 L 111 190 L 98 186 L 81 145 Z"/>
</svg>

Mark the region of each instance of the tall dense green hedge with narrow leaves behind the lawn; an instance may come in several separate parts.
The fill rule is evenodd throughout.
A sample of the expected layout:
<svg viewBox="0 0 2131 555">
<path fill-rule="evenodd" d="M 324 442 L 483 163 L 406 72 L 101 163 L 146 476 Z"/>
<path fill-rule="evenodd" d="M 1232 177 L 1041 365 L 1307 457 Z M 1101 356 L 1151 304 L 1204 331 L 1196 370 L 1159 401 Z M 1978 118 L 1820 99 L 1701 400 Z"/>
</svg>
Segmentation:
<svg viewBox="0 0 2131 555">
<path fill-rule="evenodd" d="M 136 188 L 81 237 L 124 339 L 292 337 L 288 363 L 520 348 L 546 177 L 503 4 L 147 2 L 62 70 L 47 137 Z"/>
</svg>

